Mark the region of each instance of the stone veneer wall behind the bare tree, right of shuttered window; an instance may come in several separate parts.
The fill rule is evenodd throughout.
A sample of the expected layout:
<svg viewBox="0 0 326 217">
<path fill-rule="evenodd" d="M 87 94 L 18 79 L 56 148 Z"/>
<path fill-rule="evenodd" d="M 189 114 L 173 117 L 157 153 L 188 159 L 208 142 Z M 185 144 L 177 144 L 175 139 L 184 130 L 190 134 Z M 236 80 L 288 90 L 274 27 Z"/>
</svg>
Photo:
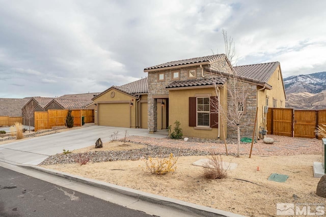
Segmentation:
<svg viewBox="0 0 326 217">
<path fill-rule="evenodd" d="M 239 82 L 238 88 L 242 88 L 244 85 L 245 89 L 248 91 L 249 95 L 246 100 L 246 114 L 244 114 L 240 120 L 240 138 L 249 137 L 252 138 L 254 126 L 255 126 L 255 117 L 256 117 L 256 108 L 257 108 L 257 86 L 255 84 L 247 82 Z M 230 94 L 228 92 L 228 101 L 230 101 Z M 237 127 L 228 126 L 228 138 L 237 138 Z"/>
</svg>

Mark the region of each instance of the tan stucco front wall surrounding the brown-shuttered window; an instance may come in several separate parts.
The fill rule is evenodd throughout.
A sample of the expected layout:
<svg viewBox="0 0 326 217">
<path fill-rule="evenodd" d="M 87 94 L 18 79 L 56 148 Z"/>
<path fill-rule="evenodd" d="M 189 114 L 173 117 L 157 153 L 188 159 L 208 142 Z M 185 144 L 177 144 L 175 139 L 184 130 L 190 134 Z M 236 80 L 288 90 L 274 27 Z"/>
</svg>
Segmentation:
<svg viewBox="0 0 326 217">
<path fill-rule="evenodd" d="M 216 96 L 214 88 L 203 89 L 185 89 L 185 90 L 170 90 L 169 91 L 169 124 L 174 127 L 174 122 L 179 120 L 184 136 L 202 137 L 202 138 L 218 138 L 218 129 L 198 130 L 194 127 L 189 127 L 189 97 L 195 97 L 198 94 L 208 96 Z M 224 92 L 221 92 L 221 102 L 225 97 Z M 221 137 L 222 136 L 221 131 Z"/>
</svg>

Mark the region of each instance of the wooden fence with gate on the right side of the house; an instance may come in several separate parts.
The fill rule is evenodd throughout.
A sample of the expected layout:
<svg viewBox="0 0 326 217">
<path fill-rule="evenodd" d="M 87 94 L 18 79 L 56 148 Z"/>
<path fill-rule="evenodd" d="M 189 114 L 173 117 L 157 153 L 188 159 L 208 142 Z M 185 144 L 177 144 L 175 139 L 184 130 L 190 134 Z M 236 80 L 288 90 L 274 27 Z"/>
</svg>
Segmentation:
<svg viewBox="0 0 326 217">
<path fill-rule="evenodd" d="M 268 108 L 267 134 L 317 138 L 318 125 L 326 125 L 326 110 L 294 110 Z"/>
</svg>

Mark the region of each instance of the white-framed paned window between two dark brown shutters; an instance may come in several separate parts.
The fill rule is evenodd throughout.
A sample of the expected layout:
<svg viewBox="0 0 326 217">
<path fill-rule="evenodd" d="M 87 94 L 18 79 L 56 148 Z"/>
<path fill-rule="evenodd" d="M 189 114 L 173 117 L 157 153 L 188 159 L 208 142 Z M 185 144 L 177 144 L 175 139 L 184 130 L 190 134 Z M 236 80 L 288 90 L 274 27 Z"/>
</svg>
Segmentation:
<svg viewBox="0 0 326 217">
<path fill-rule="evenodd" d="M 209 127 L 209 97 L 197 98 L 197 126 Z"/>
</svg>

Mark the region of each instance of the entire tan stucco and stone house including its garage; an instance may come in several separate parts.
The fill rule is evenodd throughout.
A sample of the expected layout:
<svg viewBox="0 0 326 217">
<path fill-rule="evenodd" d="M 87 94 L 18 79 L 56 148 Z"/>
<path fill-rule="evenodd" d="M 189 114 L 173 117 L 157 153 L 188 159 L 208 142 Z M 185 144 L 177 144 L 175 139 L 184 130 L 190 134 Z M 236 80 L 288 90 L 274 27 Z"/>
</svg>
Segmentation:
<svg viewBox="0 0 326 217">
<path fill-rule="evenodd" d="M 184 136 L 223 138 L 223 126 L 225 136 L 235 138 L 236 127 L 228 126 L 219 109 L 212 112 L 211 105 L 219 99 L 228 110 L 228 76 L 233 74 L 248 92 L 241 106 L 241 137 L 252 136 L 257 107 L 256 134 L 259 127 L 266 128 L 268 106 L 285 107 L 279 62 L 232 67 L 225 54 L 217 54 L 171 61 L 144 72 L 147 78 L 112 86 L 92 99 L 96 125 L 147 128 L 153 133 L 179 120 Z"/>
</svg>

